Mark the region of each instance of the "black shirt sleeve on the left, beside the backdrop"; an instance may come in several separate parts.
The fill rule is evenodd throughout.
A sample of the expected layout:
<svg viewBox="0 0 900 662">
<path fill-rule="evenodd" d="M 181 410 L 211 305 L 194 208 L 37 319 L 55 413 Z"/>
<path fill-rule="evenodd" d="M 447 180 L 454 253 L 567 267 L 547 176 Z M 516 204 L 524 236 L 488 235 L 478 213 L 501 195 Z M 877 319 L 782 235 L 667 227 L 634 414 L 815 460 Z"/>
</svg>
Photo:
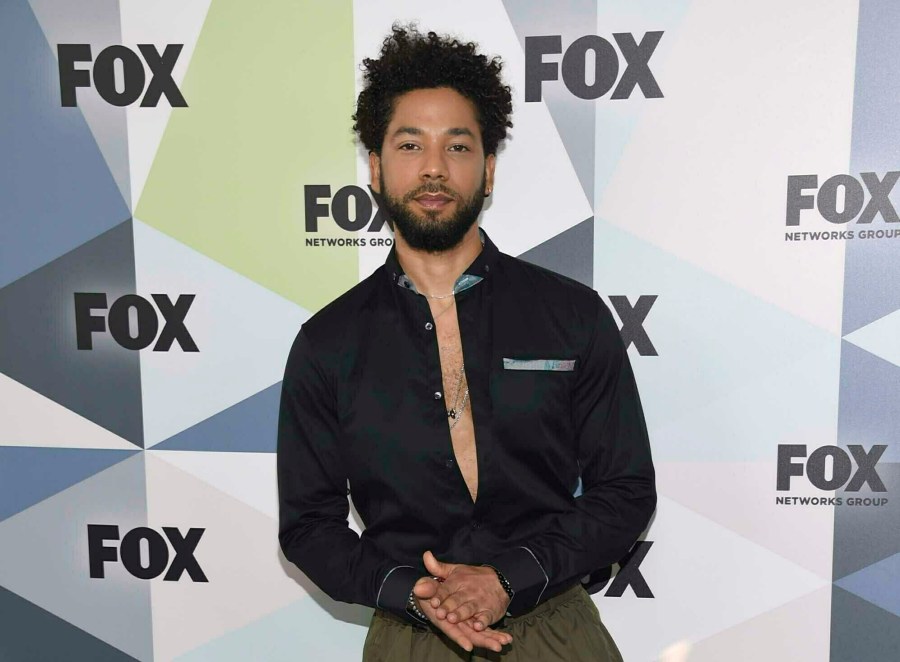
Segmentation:
<svg viewBox="0 0 900 662">
<path fill-rule="evenodd" d="M 381 607 L 414 622 L 406 600 L 420 573 L 347 524 L 333 384 L 301 330 L 288 357 L 278 418 L 281 548 L 335 600 Z"/>
</svg>

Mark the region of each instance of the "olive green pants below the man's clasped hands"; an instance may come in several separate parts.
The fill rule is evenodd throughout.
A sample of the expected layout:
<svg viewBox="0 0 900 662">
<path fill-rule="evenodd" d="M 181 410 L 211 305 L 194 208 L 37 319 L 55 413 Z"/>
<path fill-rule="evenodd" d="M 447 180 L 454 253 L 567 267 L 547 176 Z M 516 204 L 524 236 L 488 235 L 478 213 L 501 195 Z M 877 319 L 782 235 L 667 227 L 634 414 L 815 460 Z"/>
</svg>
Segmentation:
<svg viewBox="0 0 900 662">
<path fill-rule="evenodd" d="M 622 662 L 597 607 L 581 585 L 560 593 L 523 616 L 507 617 L 495 629 L 513 637 L 495 653 L 467 653 L 431 627 L 415 627 L 376 610 L 363 648 L 363 662 Z"/>
</svg>

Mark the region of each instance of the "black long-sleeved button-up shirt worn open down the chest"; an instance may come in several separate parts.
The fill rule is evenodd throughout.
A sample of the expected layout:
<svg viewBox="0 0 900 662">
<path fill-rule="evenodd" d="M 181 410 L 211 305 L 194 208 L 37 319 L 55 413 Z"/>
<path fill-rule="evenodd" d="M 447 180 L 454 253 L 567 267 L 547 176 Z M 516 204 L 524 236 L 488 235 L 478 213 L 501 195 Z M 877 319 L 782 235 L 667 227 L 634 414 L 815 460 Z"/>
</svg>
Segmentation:
<svg viewBox="0 0 900 662">
<path fill-rule="evenodd" d="M 291 349 L 279 539 L 336 600 L 405 616 L 430 549 L 497 568 L 519 615 L 620 559 L 653 513 L 647 430 L 608 309 L 593 290 L 482 237 L 454 290 L 474 503 L 454 460 L 434 319 L 393 250 Z M 362 536 L 347 525 L 348 487 Z"/>
</svg>

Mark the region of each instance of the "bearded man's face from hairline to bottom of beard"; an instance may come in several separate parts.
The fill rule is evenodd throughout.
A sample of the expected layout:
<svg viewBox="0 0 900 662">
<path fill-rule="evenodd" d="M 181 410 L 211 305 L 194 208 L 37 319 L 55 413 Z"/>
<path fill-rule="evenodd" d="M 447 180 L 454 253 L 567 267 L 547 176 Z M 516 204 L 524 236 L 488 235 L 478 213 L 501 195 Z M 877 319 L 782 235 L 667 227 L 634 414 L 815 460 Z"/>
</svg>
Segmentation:
<svg viewBox="0 0 900 662">
<path fill-rule="evenodd" d="M 494 185 L 475 106 L 449 88 L 407 92 L 394 103 L 381 155 L 369 154 L 372 188 L 412 248 L 458 245 Z"/>
</svg>

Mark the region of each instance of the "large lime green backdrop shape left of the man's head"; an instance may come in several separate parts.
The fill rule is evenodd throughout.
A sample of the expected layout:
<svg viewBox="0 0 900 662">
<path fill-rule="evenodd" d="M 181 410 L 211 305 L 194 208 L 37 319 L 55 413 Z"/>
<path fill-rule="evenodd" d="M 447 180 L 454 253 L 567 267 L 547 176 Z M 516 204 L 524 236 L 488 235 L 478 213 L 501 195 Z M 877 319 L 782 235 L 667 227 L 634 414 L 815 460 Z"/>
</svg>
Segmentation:
<svg viewBox="0 0 900 662">
<path fill-rule="evenodd" d="M 304 204 L 307 185 L 356 182 L 355 71 L 349 0 L 216 0 L 137 215 L 318 310 L 359 280 L 357 248 L 306 245 L 353 235 L 330 218 L 307 233 Z"/>
</svg>

